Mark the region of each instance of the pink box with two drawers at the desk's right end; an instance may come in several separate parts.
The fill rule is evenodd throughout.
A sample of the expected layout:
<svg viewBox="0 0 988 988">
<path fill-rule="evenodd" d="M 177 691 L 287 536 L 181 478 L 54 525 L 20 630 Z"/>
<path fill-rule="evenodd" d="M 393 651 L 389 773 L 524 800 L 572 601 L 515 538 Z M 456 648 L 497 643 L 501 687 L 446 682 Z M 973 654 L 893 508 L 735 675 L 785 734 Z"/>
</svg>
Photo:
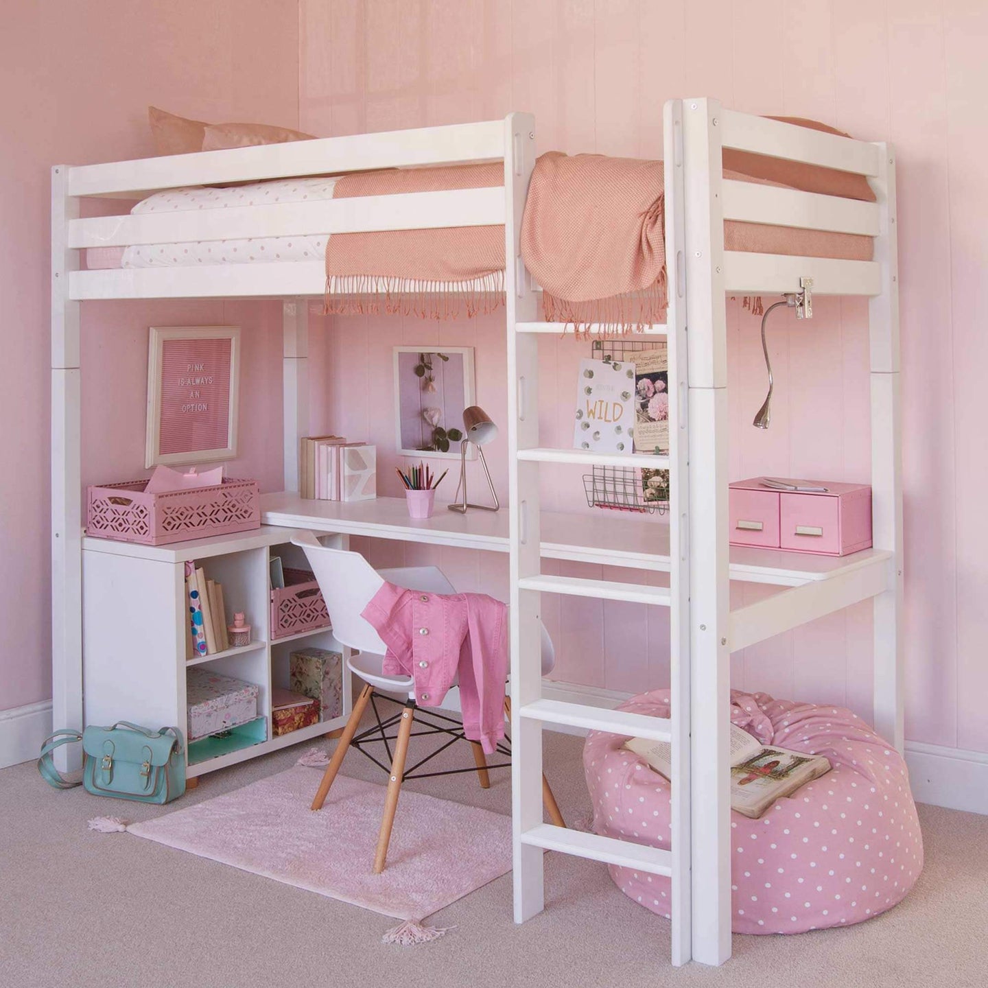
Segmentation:
<svg viewBox="0 0 988 988">
<path fill-rule="evenodd" d="M 732 545 L 848 555 L 871 545 L 871 488 L 826 480 L 786 480 L 821 491 L 780 491 L 762 485 L 762 477 L 730 485 Z M 774 478 L 775 479 L 775 478 Z"/>
</svg>

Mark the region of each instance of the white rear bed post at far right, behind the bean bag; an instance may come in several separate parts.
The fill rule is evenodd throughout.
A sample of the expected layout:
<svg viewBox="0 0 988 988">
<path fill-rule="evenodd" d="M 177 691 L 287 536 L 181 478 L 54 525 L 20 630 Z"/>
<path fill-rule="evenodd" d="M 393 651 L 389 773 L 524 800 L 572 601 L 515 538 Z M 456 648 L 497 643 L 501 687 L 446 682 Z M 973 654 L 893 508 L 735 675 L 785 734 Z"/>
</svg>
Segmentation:
<svg viewBox="0 0 988 988">
<path fill-rule="evenodd" d="M 870 180 L 878 201 L 874 260 L 881 294 L 868 300 L 871 340 L 871 517 L 874 547 L 893 553 L 892 585 L 874 598 L 874 729 L 900 752 L 903 726 L 902 430 L 899 408 L 899 269 L 895 221 L 895 153 L 876 145 L 878 174 Z"/>
</svg>

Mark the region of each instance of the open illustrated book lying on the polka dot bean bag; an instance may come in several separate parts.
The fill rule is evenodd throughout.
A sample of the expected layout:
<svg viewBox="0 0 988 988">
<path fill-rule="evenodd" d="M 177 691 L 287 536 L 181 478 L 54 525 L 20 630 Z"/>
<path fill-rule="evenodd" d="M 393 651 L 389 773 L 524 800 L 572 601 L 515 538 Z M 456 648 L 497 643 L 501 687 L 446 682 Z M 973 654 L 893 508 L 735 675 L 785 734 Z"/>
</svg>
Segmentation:
<svg viewBox="0 0 988 988">
<path fill-rule="evenodd" d="M 668 741 L 629 738 L 624 747 L 666 779 L 672 778 L 672 746 Z M 736 724 L 731 724 L 730 758 L 731 809 L 755 820 L 777 799 L 830 772 L 830 762 L 822 755 L 763 745 Z"/>
</svg>

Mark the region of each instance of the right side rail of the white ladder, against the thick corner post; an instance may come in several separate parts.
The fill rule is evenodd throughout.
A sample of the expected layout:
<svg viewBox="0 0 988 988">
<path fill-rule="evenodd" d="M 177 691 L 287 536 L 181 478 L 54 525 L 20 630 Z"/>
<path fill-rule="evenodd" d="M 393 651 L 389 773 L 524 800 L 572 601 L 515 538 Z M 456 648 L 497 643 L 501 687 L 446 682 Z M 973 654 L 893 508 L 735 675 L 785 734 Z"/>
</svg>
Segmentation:
<svg viewBox="0 0 988 988">
<path fill-rule="evenodd" d="M 663 112 L 666 194 L 666 286 L 669 306 L 669 587 L 672 720 L 672 961 L 693 956 L 690 832 L 690 433 L 689 362 L 686 331 L 686 270 L 683 258 L 683 101 Z"/>
</svg>

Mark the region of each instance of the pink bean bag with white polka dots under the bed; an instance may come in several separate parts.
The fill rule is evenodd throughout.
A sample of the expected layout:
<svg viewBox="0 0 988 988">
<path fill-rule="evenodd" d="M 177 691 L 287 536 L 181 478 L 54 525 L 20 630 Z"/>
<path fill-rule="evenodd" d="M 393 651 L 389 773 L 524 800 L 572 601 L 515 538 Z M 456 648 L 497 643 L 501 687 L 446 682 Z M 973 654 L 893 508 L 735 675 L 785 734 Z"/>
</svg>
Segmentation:
<svg viewBox="0 0 988 988">
<path fill-rule="evenodd" d="M 669 691 L 621 706 L 669 715 Z M 731 812 L 735 933 L 803 933 L 849 926 L 900 902 L 923 867 L 923 838 L 905 762 L 850 710 L 764 693 L 731 693 L 731 720 L 763 744 L 825 755 L 827 775 L 778 799 L 759 820 Z M 594 830 L 670 847 L 670 787 L 624 738 L 594 731 L 583 767 Z M 670 880 L 609 865 L 617 887 L 670 915 Z"/>
</svg>

